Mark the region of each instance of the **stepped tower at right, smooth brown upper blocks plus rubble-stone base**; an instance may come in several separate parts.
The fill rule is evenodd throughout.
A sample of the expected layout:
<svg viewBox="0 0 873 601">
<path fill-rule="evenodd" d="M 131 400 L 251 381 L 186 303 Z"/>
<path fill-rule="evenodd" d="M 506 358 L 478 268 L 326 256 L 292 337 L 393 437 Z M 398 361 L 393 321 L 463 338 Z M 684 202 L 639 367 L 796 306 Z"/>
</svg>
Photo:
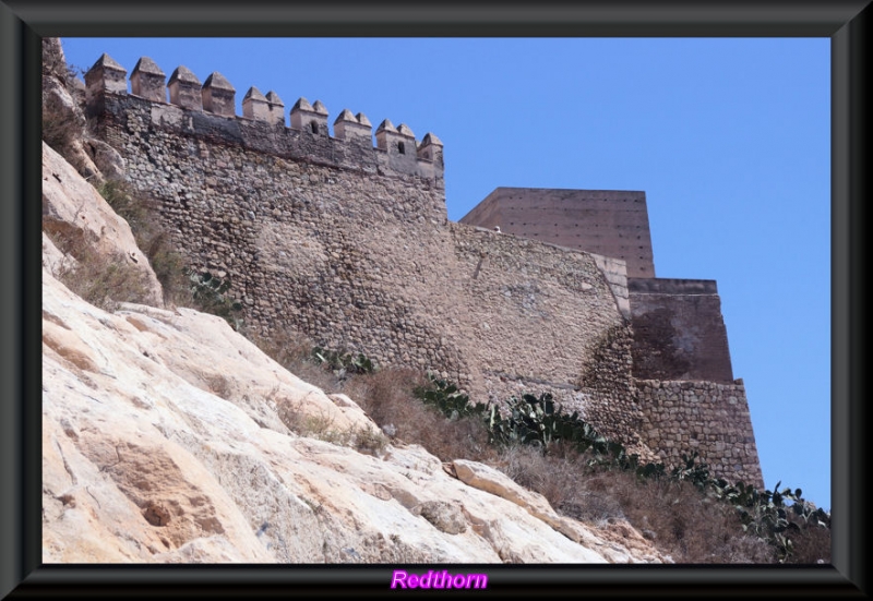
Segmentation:
<svg viewBox="0 0 873 601">
<path fill-rule="evenodd" d="M 646 424 L 644 443 L 666 462 L 697 450 L 715 472 L 761 483 L 716 283 L 655 277 L 644 192 L 498 188 L 461 223 L 624 262 L 631 380 Z"/>
</svg>

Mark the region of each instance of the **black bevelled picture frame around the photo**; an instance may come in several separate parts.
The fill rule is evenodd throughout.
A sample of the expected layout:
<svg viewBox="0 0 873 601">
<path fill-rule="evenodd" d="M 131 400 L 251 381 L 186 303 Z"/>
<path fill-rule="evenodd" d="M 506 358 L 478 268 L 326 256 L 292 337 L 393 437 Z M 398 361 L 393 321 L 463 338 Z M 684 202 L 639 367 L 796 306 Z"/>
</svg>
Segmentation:
<svg viewBox="0 0 873 601">
<path fill-rule="evenodd" d="M 500 597 L 864 597 L 866 0 L 143 3 L 0 0 L 0 597 L 381 596 L 402 566 L 41 565 L 39 64 L 46 36 L 829 37 L 832 48 L 833 563 L 827 566 L 464 566 Z M 799 375 L 800 376 L 800 375 Z M 410 566 L 407 566 L 410 567 Z M 420 567 L 420 566 L 419 566 Z M 415 570 L 415 567 L 411 567 Z M 458 572 L 455 569 L 455 572 Z M 453 591 L 457 593 L 459 591 Z M 420 591 L 416 591 L 420 593 Z M 415 594 L 405 591 L 403 594 Z"/>
</svg>

